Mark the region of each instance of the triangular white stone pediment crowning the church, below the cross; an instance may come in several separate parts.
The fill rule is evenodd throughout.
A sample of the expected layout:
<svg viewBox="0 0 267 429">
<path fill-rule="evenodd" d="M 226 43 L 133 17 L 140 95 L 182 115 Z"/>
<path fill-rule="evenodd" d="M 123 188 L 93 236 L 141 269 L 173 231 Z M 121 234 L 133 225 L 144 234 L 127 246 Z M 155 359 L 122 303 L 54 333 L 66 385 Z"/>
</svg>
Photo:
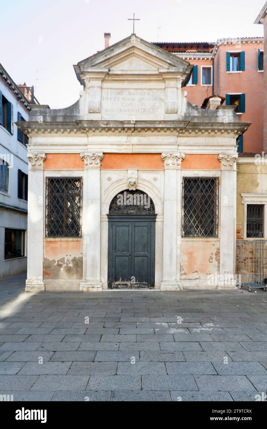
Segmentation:
<svg viewBox="0 0 267 429">
<path fill-rule="evenodd" d="M 78 80 L 84 85 L 87 75 L 103 71 L 119 75 L 174 73 L 189 79 L 192 66 L 170 52 L 132 34 L 109 48 L 92 55 L 74 66 Z"/>
</svg>

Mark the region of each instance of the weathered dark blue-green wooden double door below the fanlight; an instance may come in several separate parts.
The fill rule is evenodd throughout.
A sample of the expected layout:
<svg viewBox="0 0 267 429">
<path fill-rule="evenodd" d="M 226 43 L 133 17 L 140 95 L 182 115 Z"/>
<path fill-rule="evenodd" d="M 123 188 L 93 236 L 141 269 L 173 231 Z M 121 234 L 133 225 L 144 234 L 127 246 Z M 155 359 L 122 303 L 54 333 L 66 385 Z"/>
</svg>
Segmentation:
<svg viewBox="0 0 267 429">
<path fill-rule="evenodd" d="M 156 215 L 108 215 L 108 286 L 153 287 Z"/>
</svg>

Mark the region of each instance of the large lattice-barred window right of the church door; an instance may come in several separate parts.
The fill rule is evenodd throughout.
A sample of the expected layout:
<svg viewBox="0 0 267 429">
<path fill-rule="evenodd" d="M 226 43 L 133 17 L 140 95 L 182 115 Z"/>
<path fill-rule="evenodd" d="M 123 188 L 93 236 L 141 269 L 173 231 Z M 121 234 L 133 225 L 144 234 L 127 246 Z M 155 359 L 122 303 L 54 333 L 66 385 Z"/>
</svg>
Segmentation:
<svg viewBox="0 0 267 429">
<path fill-rule="evenodd" d="M 183 237 L 218 237 L 218 178 L 183 178 Z"/>
</svg>

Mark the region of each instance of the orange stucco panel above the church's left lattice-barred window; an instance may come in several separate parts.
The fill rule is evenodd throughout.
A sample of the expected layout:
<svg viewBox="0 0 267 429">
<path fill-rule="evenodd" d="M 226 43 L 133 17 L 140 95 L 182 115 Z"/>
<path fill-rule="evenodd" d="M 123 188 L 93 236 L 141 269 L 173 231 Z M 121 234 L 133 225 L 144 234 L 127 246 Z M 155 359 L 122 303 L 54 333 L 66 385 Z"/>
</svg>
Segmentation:
<svg viewBox="0 0 267 429">
<path fill-rule="evenodd" d="M 83 170 L 80 154 L 46 154 L 45 170 Z"/>
</svg>

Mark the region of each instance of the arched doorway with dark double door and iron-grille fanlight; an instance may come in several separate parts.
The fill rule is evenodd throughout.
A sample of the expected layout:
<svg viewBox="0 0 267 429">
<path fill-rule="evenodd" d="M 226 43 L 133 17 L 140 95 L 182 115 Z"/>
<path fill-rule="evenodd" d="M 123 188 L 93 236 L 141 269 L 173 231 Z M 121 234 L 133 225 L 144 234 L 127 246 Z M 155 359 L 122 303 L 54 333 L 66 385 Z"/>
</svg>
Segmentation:
<svg viewBox="0 0 267 429">
<path fill-rule="evenodd" d="M 155 284 L 155 206 L 147 193 L 124 190 L 108 211 L 108 287 Z"/>
</svg>

